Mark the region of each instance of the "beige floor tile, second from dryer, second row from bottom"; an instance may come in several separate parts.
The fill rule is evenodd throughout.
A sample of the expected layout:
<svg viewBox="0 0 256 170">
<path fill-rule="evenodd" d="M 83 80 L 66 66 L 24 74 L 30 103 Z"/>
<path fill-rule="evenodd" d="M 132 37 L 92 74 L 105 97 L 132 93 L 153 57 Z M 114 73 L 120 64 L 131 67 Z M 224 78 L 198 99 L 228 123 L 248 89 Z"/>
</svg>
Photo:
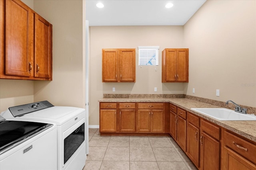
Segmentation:
<svg viewBox="0 0 256 170">
<path fill-rule="evenodd" d="M 104 161 L 129 161 L 129 147 L 108 147 Z"/>
</svg>

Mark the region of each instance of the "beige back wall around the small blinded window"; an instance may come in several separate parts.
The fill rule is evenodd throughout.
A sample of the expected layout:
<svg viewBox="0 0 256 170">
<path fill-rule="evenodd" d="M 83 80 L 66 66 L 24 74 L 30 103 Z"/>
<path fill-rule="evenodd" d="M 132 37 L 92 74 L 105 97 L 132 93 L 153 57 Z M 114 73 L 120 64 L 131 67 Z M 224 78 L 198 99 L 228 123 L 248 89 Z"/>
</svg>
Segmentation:
<svg viewBox="0 0 256 170">
<path fill-rule="evenodd" d="M 138 66 L 138 46 L 160 46 L 159 65 Z M 183 26 L 90 27 L 89 125 L 99 124 L 98 100 L 106 93 L 183 94 L 185 83 L 162 83 L 161 52 L 164 48 L 170 47 L 185 48 L 183 45 Z M 102 49 L 104 48 L 136 49 L 135 83 L 102 83 Z M 115 92 L 112 92 L 113 87 L 116 88 Z M 157 92 L 154 92 L 154 87 L 157 88 Z"/>
</svg>

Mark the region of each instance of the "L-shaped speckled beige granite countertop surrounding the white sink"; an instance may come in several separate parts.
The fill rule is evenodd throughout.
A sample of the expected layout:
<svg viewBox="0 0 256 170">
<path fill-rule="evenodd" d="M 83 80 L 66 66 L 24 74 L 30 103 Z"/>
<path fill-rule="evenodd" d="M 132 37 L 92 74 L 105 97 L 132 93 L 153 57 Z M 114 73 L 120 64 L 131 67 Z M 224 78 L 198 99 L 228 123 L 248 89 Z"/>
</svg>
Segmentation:
<svg viewBox="0 0 256 170">
<path fill-rule="evenodd" d="M 192 110 L 191 108 L 216 108 L 218 106 L 198 102 L 195 100 L 190 100 L 187 98 L 102 98 L 101 100 L 98 100 L 98 102 L 169 102 L 234 133 L 237 133 L 238 135 L 256 142 L 256 121 L 220 121 L 212 117 L 208 117 Z"/>
</svg>

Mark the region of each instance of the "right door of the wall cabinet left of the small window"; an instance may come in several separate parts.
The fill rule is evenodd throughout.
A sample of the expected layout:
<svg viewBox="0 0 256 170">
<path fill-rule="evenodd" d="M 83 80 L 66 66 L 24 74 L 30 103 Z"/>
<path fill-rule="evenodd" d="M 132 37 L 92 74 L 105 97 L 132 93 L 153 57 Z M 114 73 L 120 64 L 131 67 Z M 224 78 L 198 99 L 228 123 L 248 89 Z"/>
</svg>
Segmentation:
<svg viewBox="0 0 256 170">
<path fill-rule="evenodd" d="M 118 57 L 120 82 L 135 82 L 135 49 L 120 49 Z"/>
</svg>

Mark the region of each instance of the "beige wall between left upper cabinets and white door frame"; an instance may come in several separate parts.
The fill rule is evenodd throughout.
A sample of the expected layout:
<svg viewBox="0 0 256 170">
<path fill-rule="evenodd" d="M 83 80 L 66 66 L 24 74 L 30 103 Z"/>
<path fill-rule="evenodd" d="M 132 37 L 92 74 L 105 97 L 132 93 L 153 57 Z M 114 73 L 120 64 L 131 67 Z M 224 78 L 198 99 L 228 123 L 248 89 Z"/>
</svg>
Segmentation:
<svg viewBox="0 0 256 170">
<path fill-rule="evenodd" d="M 34 10 L 53 25 L 53 80 L 34 82 L 34 101 L 85 107 L 82 0 L 35 0 Z"/>
</svg>

